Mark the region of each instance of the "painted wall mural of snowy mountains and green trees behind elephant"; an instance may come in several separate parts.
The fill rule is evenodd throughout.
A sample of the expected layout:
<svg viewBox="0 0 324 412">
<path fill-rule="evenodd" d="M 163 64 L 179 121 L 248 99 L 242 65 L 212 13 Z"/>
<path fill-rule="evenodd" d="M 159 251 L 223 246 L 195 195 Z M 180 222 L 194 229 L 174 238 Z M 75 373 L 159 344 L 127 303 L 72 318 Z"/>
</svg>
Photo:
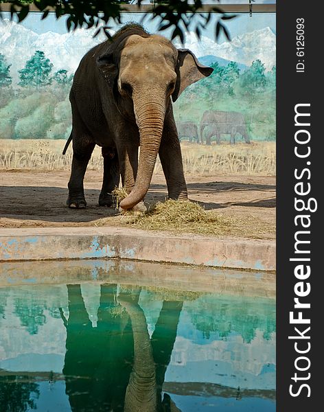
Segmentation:
<svg viewBox="0 0 324 412">
<path fill-rule="evenodd" d="M 141 17 L 124 14 L 124 22 Z M 144 26 L 156 30 L 148 19 Z M 237 141 L 275 140 L 275 15 L 242 14 L 228 26 L 231 43 L 224 38 L 215 43 L 212 25 L 200 41 L 193 32 L 185 38 L 184 47 L 214 71 L 174 104 L 180 138 L 204 144 L 229 141 L 226 124 L 235 124 Z M 93 38 L 91 30 L 67 33 L 65 21 L 54 16 L 40 21 L 34 13 L 23 24 L 1 21 L 0 139 L 67 139 L 73 73 L 87 50 L 104 40 L 103 34 Z M 220 135 L 206 111 L 217 111 Z"/>
</svg>

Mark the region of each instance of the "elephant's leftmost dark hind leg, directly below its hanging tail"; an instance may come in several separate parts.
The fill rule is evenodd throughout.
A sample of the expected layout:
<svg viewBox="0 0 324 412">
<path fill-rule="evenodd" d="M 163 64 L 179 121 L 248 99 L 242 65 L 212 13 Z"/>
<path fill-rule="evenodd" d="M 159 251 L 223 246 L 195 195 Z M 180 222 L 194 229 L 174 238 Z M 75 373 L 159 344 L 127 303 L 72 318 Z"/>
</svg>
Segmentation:
<svg viewBox="0 0 324 412">
<path fill-rule="evenodd" d="M 68 183 L 69 197 L 67 198 L 67 205 L 73 209 L 86 207 L 83 179 L 94 148 L 95 144 L 89 143 L 83 146 L 82 150 L 78 150 L 73 144 L 71 176 Z"/>
</svg>

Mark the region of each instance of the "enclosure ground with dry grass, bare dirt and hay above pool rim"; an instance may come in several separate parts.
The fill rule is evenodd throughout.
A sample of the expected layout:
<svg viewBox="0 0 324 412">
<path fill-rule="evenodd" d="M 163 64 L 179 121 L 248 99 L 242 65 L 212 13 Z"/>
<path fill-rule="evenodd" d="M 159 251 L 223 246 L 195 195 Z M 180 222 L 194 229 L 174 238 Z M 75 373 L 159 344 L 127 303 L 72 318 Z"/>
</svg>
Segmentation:
<svg viewBox="0 0 324 412">
<path fill-rule="evenodd" d="M 98 207 L 102 155 L 95 148 L 84 179 L 86 209 L 66 206 L 71 146 L 65 140 L 0 140 L 0 227 L 138 227 L 174 233 L 273 239 L 275 142 L 205 146 L 181 143 L 189 199 L 167 201 L 159 159 L 146 196 L 150 214 L 119 214 Z M 155 206 L 154 206 L 155 205 Z"/>
</svg>

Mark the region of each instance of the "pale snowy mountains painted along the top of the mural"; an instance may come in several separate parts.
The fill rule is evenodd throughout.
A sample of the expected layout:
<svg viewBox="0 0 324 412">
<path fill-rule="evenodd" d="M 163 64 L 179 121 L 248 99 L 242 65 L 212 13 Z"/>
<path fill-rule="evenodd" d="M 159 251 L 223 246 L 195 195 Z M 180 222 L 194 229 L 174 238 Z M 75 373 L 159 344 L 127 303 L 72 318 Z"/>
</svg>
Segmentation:
<svg viewBox="0 0 324 412">
<path fill-rule="evenodd" d="M 5 56 L 10 68 L 10 75 L 14 82 L 18 80 L 17 71 L 25 66 L 25 62 L 36 52 L 41 50 L 54 65 L 54 71 L 67 69 L 71 73 L 76 71 L 84 54 L 94 45 L 104 41 L 104 34 L 93 38 L 94 30 L 76 30 L 75 32 L 58 34 L 46 32 L 37 34 L 21 24 L 4 20 L 0 22 L 0 50 Z M 203 36 L 198 41 L 196 34 L 186 35 L 185 47 L 191 49 L 203 64 L 218 61 L 220 65 L 234 60 L 244 70 L 253 60 L 259 58 L 264 62 L 267 70 L 275 65 L 276 36 L 266 27 L 233 38 L 231 43 L 216 44 L 210 38 Z M 174 42 L 176 47 L 183 47 Z"/>
</svg>

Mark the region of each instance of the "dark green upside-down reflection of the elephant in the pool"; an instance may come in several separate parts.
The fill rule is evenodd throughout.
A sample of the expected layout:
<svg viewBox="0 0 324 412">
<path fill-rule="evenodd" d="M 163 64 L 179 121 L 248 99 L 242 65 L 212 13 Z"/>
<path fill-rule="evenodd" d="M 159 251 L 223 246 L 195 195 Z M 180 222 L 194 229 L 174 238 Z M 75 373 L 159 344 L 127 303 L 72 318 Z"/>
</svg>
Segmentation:
<svg viewBox="0 0 324 412">
<path fill-rule="evenodd" d="M 119 293 L 102 285 L 97 328 L 89 321 L 80 285 L 69 285 L 65 355 L 66 393 L 71 410 L 180 411 L 162 387 L 176 339 L 183 302 L 163 301 L 152 339 L 138 304 L 140 288 Z M 124 310 L 123 310 L 124 308 Z"/>
</svg>

